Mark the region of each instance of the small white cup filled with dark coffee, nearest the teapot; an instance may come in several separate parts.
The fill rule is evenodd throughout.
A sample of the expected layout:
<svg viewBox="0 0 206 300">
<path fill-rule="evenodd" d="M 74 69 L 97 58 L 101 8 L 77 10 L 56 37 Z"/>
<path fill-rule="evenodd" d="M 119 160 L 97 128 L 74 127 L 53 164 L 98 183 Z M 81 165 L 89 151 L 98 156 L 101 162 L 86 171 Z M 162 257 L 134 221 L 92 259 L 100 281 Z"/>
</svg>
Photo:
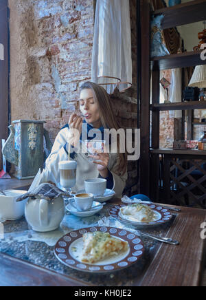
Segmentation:
<svg viewBox="0 0 206 300">
<path fill-rule="evenodd" d="M 74 204 L 70 201 L 71 206 L 74 206 L 78 211 L 88 211 L 93 204 L 93 194 L 77 193 L 74 196 Z"/>
</svg>

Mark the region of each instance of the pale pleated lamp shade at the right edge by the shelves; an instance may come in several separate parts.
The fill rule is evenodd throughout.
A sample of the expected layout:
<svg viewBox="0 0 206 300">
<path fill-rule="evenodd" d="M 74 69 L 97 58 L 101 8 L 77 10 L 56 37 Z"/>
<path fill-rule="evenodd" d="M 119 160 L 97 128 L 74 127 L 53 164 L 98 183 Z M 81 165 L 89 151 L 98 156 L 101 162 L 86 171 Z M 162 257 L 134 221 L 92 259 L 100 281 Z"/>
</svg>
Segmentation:
<svg viewBox="0 0 206 300">
<path fill-rule="evenodd" d="M 189 87 L 206 87 L 206 65 L 197 65 L 192 74 Z"/>
</svg>

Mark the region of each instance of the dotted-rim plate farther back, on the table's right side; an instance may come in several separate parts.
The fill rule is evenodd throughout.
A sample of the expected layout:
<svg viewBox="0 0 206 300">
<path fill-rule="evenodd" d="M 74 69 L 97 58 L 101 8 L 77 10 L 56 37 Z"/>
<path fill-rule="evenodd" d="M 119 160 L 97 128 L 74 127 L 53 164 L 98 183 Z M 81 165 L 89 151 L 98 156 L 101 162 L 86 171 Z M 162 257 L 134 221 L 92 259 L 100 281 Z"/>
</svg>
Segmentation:
<svg viewBox="0 0 206 300">
<path fill-rule="evenodd" d="M 122 222 L 124 224 L 128 224 L 128 225 L 133 225 L 135 227 L 138 228 L 144 228 L 144 227 L 150 227 L 150 226 L 156 226 L 156 225 L 160 225 L 160 224 L 164 224 L 166 222 L 169 222 L 170 219 L 172 219 L 172 214 L 170 213 L 170 211 L 168 211 L 168 209 L 165 209 L 163 207 L 161 207 L 161 205 L 157 205 L 157 204 L 145 204 L 147 206 L 149 206 L 150 208 L 152 208 L 152 210 L 155 212 L 155 215 L 157 216 L 157 219 L 155 219 L 152 222 L 133 222 L 133 221 L 129 221 L 127 219 L 123 219 L 122 217 L 119 216 L 119 209 L 121 207 L 127 206 L 130 204 L 120 204 L 120 205 L 115 205 L 113 208 L 111 208 L 110 210 L 110 215 L 112 217 L 115 217 L 115 219 L 118 219 L 119 222 Z"/>
</svg>

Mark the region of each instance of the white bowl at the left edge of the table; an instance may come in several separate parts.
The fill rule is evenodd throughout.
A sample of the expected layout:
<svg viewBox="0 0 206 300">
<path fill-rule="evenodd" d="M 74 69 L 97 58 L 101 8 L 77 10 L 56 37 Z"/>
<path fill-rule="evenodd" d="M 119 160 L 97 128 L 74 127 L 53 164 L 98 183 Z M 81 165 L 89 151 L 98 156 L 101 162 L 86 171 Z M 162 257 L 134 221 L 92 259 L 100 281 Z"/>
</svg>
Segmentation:
<svg viewBox="0 0 206 300">
<path fill-rule="evenodd" d="M 0 219 L 14 221 L 24 215 L 27 199 L 16 202 L 16 199 L 27 191 L 6 190 L 5 195 L 0 195 Z"/>
</svg>

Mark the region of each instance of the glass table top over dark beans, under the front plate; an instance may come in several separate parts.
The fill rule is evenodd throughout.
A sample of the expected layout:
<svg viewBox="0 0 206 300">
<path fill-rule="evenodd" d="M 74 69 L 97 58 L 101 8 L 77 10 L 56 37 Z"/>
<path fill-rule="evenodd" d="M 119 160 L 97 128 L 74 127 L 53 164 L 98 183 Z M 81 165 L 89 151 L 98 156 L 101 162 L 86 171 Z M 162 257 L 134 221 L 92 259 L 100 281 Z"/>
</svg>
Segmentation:
<svg viewBox="0 0 206 300">
<path fill-rule="evenodd" d="M 148 237 L 140 237 L 146 249 L 144 256 L 141 257 L 136 264 L 121 270 L 121 272 L 109 272 L 108 274 L 102 275 L 73 270 L 68 266 L 63 265 L 54 255 L 54 246 L 56 242 L 58 242 L 58 239 L 63 235 L 80 228 L 104 225 L 125 228 L 127 231 L 134 232 L 133 228 L 126 227 L 113 219 L 113 217 L 109 217 L 109 209 L 110 207 L 106 205 L 100 213 L 97 213 L 92 217 L 84 218 L 66 213 L 60 227 L 56 231 L 51 231 L 49 233 L 37 233 L 32 231 L 24 217 L 16 221 L 0 223 L 0 252 L 23 259 L 37 266 L 53 270 L 62 275 L 72 277 L 73 279 L 83 280 L 86 284 L 88 283 L 88 285 L 132 286 L 141 280 L 144 271 L 161 243 Z M 103 223 L 102 216 L 106 217 L 106 223 Z M 169 223 L 155 226 L 146 232 L 156 235 L 166 235 L 173 221 L 174 218 Z"/>
</svg>

